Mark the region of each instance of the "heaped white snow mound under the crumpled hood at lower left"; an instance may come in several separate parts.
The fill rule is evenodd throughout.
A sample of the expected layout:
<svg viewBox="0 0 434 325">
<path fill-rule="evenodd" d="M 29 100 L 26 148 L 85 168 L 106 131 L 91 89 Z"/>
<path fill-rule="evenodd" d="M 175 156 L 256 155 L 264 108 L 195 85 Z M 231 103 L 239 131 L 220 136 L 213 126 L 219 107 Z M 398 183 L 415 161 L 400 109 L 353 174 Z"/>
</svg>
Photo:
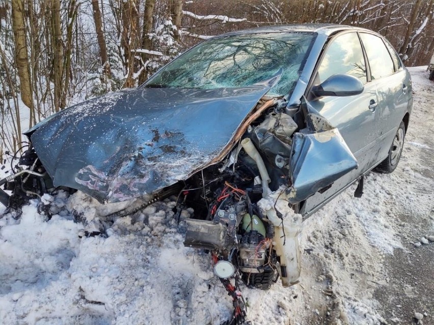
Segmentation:
<svg viewBox="0 0 434 325">
<path fill-rule="evenodd" d="M 99 203 L 87 198 L 72 204 L 82 193 L 62 196 L 53 198 L 59 214 L 50 220 L 38 213 L 36 201 L 23 207 L 19 222 L 8 215 L 1 219 L 4 323 L 205 324 L 230 316 L 231 302 L 208 255 L 182 244 L 191 209 L 182 212 L 178 225 L 175 202 L 157 202 L 115 218 L 107 236 L 79 238 Z M 75 214 L 81 211 L 81 222 L 74 221 L 71 205 Z"/>
</svg>

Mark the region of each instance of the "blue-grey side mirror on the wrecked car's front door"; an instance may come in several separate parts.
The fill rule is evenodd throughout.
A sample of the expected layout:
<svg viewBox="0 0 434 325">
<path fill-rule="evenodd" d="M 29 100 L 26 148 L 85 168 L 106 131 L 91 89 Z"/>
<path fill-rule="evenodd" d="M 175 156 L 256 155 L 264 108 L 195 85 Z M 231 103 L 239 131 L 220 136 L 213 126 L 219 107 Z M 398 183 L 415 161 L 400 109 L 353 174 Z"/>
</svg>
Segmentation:
<svg viewBox="0 0 434 325">
<path fill-rule="evenodd" d="M 315 97 L 321 96 L 354 96 L 363 93 L 363 83 L 354 76 L 348 74 L 335 74 L 322 82 L 320 85 L 312 87 Z"/>
</svg>

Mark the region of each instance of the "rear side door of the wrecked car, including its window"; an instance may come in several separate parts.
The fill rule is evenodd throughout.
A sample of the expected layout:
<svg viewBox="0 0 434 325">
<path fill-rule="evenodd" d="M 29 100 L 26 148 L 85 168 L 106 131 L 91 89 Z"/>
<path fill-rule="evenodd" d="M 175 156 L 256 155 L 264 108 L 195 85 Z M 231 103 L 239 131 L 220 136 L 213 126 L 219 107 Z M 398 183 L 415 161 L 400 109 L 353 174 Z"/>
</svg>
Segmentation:
<svg viewBox="0 0 434 325">
<path fill-rule="evenodd" d="M 390 45 L 388 49 L 383 39 L 373 34 L 359 33 L 359 35 L 366 51 L 371 83 L 376 87 L 378 94 L 375 119 L 376 145 L 374 146 L 374 151 L 378 154 L 373 157 L 375 158 L 375 161 L 371 162 L 373 166 L 388 155 L 410 99 L 411 84 Z"/>
</svg>

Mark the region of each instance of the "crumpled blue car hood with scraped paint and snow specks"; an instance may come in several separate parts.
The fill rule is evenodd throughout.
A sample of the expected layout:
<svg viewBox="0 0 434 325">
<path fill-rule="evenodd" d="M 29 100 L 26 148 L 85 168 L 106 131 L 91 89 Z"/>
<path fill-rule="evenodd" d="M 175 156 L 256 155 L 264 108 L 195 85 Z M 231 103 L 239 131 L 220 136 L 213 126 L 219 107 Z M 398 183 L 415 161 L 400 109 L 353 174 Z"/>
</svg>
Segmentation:
<svg viewBox="0 0 434 325">
<path fill-rule="evenodd" d="M 24 134 L 55 186 L 124 201 L 218 157 L 268 89 L 138 88 L 72 106 Z"/>
</svg>

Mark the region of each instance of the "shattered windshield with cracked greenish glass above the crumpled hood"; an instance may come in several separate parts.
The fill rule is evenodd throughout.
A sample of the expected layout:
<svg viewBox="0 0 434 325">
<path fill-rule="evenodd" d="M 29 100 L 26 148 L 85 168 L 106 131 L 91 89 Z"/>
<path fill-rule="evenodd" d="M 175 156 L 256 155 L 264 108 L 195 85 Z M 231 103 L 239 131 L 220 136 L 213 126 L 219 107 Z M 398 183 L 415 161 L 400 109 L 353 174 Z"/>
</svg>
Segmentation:
<svg viewBox="0 0 434 325">
<path fill-rule="evenodd" d="M 214 89 L 271 83 L 268 94 L 286 95 L 299 79 L 315 37 L 267 33 L 209 40 L 161 69 L 145 87 Z"/>
</svg>

